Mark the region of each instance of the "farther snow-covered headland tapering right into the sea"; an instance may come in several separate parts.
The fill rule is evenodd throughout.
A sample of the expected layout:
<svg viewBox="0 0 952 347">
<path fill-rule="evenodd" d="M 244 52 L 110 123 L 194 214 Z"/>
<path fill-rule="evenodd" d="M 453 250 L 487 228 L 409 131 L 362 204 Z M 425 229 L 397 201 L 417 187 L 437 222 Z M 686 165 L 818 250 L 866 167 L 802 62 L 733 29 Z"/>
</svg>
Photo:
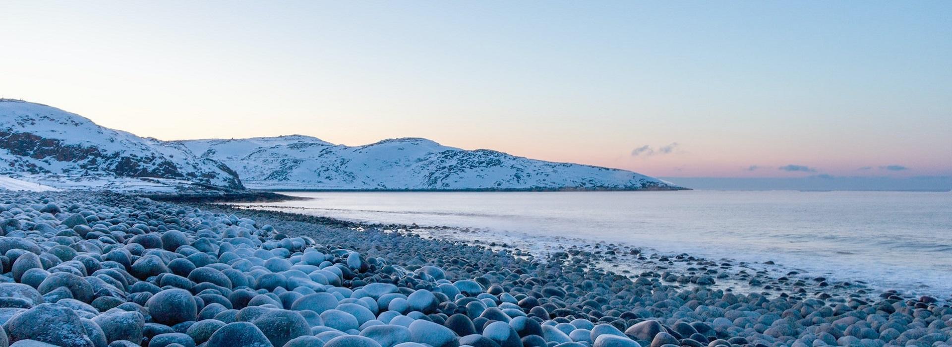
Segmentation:
<svg viewBox="0 0 952 347">
<path fill-rule="evenodd" d="M 180 141 L 202 158 L 227 164 L 256 189 L 677 189 L 631 171 L 552 163 L 426 139 L 333 145 L 291 135 Z"/>
</svg>

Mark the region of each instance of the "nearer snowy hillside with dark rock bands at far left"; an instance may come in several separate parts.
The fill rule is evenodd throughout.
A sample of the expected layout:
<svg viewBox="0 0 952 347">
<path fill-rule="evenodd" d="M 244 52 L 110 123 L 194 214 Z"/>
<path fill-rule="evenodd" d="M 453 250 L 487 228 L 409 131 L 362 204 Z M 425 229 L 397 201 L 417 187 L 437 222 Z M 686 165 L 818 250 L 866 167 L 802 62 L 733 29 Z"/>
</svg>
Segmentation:
<svg viewBox="0 0 952 347">
<path fill-rule="evenodd" d="M 0 166 L 4 172 L 40 177 L 154 178 L 242 187 L 228 166 L 198 158 L 184 145 L 141 138 L 59 108 L 9 99 L 0 99 Z"/>
</svg>

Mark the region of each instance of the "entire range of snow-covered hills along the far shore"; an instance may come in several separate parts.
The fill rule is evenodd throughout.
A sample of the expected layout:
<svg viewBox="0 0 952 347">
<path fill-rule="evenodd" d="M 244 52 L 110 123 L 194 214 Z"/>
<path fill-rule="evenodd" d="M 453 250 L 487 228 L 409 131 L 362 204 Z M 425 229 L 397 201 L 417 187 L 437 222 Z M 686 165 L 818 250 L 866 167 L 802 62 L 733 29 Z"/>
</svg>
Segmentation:
<svg viewBox="0 0 952 347">
<path fill-rule="evenodd" d="M 0 99 L 0 166 L 0 175 L 11 180 L 64 189 L 682 189 L 621 169 L 465 150 L 422 138 L 356 146 L 306 135 L 161 141 L 10 99 Z"/>
</svg>

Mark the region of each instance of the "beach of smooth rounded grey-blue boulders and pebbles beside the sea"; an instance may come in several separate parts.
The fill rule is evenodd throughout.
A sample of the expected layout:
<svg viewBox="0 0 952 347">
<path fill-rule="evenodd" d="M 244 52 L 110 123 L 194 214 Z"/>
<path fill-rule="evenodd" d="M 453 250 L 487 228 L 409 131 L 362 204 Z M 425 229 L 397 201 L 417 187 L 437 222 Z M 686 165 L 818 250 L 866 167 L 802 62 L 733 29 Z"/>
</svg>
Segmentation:
<svg viewBox="0 0 952 347">
<path fill-rule="evenodd" d="M 2 193 L 0 217 L 0 346 L 952 344 L 944 298 L 770 264 L 605 243 L 533 255 L 115 193 Z"/>
</svg>

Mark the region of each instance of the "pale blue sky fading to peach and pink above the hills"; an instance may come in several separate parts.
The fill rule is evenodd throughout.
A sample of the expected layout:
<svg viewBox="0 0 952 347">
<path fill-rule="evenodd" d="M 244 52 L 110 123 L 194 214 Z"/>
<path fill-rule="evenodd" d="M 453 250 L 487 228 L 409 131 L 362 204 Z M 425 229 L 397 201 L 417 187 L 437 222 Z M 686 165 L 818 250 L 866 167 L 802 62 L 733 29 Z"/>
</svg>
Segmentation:
<svg viewBox="0 0 952 347">
<path fill-rule="evenodd" d="M 0 96 L 164 140 L 952 175 L 950 1 L 0 2 Z"/>
</svg>

